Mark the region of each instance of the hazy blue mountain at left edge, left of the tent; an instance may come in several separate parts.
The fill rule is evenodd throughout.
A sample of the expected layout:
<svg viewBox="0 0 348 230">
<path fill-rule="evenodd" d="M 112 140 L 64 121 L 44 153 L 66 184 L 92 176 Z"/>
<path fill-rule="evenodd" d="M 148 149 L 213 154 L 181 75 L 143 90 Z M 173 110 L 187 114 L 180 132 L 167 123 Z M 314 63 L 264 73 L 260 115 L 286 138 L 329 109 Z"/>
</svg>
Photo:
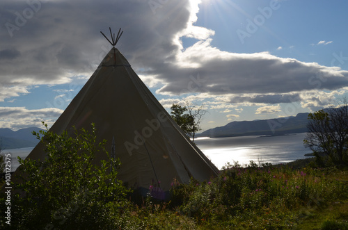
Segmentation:
<svg viewBox="0 0 348 230">
<path fill-rule="evenodd" d="M 19 149 L 25 147 L 35 147 L 40 140 L 32 134 L 33 131 L 40 131 L 40 128 L 31 127 L 13 131 L 11 129 L 0 129 L 1 148 Z"/>
</svg>

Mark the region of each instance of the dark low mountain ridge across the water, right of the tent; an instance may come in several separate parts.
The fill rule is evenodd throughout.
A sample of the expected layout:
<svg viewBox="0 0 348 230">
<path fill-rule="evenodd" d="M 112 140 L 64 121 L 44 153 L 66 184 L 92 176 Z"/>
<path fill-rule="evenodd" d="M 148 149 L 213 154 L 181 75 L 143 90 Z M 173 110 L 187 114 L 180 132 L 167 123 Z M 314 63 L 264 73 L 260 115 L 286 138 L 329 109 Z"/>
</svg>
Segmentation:
<svg viewBox="0 0 348 230">
<path fill-rule="evenodd" d="M 285 135 L 287 133 L 307 132 L 308 113 L 299 113 L 295 117 L 282 117 L 269 120 L 230 122 L 226 126 L 208 129 L 198 136 L 212 138 L 239 135 Z"/>
</svg>

